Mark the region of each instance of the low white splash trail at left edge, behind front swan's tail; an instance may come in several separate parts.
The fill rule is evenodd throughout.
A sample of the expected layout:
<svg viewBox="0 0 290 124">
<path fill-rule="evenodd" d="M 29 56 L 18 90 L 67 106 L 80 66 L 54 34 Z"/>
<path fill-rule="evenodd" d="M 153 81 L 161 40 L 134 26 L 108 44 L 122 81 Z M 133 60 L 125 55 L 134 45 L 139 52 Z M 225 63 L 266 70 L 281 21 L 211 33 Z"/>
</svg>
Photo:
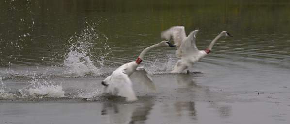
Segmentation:
<svg viewBox="0 0 290 124">
<path fill-rule="evenodd" d="M 39 78 L 39 77 L 38 77 Z M 83 99 L 86 101 L 95 101 L 101 97 L 99 89 L 65 91 L 62 83 L 54 83 L 45 79 L 37 79 L 35 77 L 29 82 L 29 85 L 17 91 L 6 90 L 0 78 L 0 99 L 21 99 L 21 100 L 46 100 L 46 99 Z M 8 92 L 7 92 L 8 91 Z M 84 99 L 85 98 L 85 99 Z"/>
</svg>

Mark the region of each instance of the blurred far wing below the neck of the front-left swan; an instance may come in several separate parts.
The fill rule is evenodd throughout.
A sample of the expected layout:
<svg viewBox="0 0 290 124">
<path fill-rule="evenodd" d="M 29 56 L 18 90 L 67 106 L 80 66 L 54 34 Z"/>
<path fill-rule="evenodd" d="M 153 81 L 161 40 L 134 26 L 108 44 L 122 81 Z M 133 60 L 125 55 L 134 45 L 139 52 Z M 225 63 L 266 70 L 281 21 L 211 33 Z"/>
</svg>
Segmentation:
<svg viewBox="0 0 290 124">
<path fill-rule="evenodd" d="M 144 68 L 138 67 L 136 71 L 130 76 L 131 79 L 136 80 L 136 82 L 141 83 L 148 87 L 151 90 L 156 90 L 155 84 L 152 81 L 152 78 L 149 74 L 145 71 Z"/>
</svg>

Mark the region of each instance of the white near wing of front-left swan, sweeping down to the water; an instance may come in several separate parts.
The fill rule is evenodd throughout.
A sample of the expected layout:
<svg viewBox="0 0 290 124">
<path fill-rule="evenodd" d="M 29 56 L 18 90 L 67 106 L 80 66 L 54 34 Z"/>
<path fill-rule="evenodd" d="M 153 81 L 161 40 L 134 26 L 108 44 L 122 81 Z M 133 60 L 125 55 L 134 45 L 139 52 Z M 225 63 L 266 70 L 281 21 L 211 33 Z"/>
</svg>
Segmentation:
<svg viewBox="0 0 290 124">
<path fill-rule="evenodd" d="M 128 101 L 137 100 L 129 76 L 124 74 L 122 71 L 114 71 L 112 73 L 107 93 L 117 93 L 119 96 L 126 97 L 126 100 Z"/>
</svg>

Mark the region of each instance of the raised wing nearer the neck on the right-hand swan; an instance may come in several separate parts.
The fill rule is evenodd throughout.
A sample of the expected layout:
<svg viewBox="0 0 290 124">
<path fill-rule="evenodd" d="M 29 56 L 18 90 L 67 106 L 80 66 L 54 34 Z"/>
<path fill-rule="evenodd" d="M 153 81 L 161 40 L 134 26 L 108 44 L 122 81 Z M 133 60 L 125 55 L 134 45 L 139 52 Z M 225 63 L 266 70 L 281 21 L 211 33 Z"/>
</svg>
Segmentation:
<svg viewBox="0 0 290 124">
<path fill-rule="evenodd" d="M 182 57 L 198 53 L 198 48 L 196 47 L 196 31 L 198 30 L 192 31 L 188 37 L 183 40 L 180 46 Z"/>
</svg>

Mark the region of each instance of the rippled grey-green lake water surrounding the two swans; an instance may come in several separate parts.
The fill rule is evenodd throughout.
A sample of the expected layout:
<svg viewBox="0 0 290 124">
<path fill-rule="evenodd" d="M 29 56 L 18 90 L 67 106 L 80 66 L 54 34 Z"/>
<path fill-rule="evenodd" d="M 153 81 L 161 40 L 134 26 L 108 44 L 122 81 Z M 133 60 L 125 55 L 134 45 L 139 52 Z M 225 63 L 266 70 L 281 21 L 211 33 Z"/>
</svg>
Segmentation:
<svg viewBox="0 0 290 124">
<path fill-rule="evenodd" d="M 3 0 L 0 124 L 288 124 L 289 12 L 284 0 Z M 170 74 L 174 48 L 152 49 L 141 66 L 156 92 L 133 80 L 138 101 L 101 94 L 173 25 L 199 29 L 199 49 L 234 37 L 190 74 Z"/>
</svg>

